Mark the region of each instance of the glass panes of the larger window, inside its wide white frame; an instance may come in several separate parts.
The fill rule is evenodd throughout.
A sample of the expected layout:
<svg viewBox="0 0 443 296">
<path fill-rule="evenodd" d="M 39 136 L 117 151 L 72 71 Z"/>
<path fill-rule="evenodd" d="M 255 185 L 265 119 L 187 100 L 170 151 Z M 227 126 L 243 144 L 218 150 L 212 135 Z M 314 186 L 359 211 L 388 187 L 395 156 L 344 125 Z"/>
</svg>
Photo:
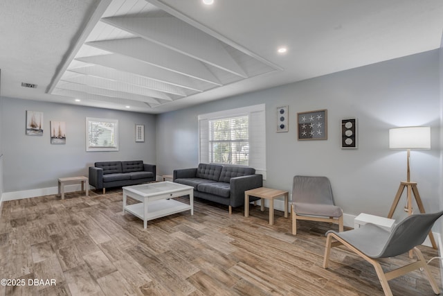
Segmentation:
<svg viewBox="0 0 443 296">
<path fill-rule="evenodd" d="M 249 116 L 209 121 L 209 162 L 248 165 Z"/>
</svg>

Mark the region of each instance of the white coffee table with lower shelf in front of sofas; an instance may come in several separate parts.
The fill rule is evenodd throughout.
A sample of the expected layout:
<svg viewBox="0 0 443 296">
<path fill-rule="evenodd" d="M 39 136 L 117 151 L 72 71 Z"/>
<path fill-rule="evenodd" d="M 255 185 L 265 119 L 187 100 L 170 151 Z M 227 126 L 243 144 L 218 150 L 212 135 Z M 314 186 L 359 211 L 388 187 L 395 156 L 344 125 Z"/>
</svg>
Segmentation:
<svg viewBox="0 0 443 296">
<path fill-rule="evenodd" d="M 190 204 L 173 200 L 179 196 L 189 195 Z M 137 204 L 126 204 L 127 196 L 141 201 Z M 123 214 L 125 211 L 143 220 L 143 227 L 147 221 L 164 216 L 191 211 L 194 215 L 194 187 L 174 182 L 157 182 L 123 187 Z"/>
</svg>

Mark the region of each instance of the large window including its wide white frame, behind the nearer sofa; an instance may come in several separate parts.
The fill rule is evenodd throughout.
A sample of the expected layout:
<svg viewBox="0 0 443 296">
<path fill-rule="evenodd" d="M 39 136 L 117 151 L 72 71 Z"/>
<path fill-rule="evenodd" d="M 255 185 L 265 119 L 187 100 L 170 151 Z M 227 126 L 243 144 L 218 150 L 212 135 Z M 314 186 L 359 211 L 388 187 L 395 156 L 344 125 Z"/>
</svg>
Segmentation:
<svg viewBox="0 0 443 296">
<path fill-rule="evenodd" d="M 264 107 L 199 115 L 199 162 L 251 166 L 266 179 Z"/>
</svg>

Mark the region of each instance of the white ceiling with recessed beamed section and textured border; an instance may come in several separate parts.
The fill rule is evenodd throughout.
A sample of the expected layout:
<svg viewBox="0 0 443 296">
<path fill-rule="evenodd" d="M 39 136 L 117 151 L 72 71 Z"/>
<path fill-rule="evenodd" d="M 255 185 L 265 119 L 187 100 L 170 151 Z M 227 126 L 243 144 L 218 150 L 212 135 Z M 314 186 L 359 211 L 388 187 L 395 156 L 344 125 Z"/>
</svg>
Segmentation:
<svg viewBox="0 0 443 296">
<path fill-rule="evenodd" d="M 441 0 L 1 1 L 0 95 L 157 114 L 437 49 L 442 30 Z"/>
</svg>

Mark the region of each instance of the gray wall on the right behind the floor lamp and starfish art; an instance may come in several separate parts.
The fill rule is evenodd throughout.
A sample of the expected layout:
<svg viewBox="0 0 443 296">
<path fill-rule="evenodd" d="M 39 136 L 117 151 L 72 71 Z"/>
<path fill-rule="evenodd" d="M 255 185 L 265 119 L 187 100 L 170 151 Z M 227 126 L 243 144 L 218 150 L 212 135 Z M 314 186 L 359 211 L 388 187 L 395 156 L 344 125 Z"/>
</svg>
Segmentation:
<svg viewBox="0 0 443 296">
<path fill-rule="evenodd" d="M 399 182 L 406 179 L 406 151 L 388 148 L 388 130 L 431 125 L 432 149 L 411 153 L 411 178 L 418 182 L 425 209 L 437 209 L 441 207 L 439 71 L 435 50 L 161 114 L 156 132 L 158 170 L 170 174 L 174 168 L 198 164 L 199 114 L 265 103 L 264 186 L 291 191 L 293 175 L 326 175 L 346 214 L 364 211 L 386 216 Z M 275 132 L 275 108 L 282 105 L 289 105 L 286 133 Z M 298 141 L 297 112 L 318 109 L 327 109 L 328 139 Z M 341 149 L 341 119 L 347 117 L 358 119 L 356 150 Z M 395 218 L 403 215 L 396 211 Z"/>
</svg>

